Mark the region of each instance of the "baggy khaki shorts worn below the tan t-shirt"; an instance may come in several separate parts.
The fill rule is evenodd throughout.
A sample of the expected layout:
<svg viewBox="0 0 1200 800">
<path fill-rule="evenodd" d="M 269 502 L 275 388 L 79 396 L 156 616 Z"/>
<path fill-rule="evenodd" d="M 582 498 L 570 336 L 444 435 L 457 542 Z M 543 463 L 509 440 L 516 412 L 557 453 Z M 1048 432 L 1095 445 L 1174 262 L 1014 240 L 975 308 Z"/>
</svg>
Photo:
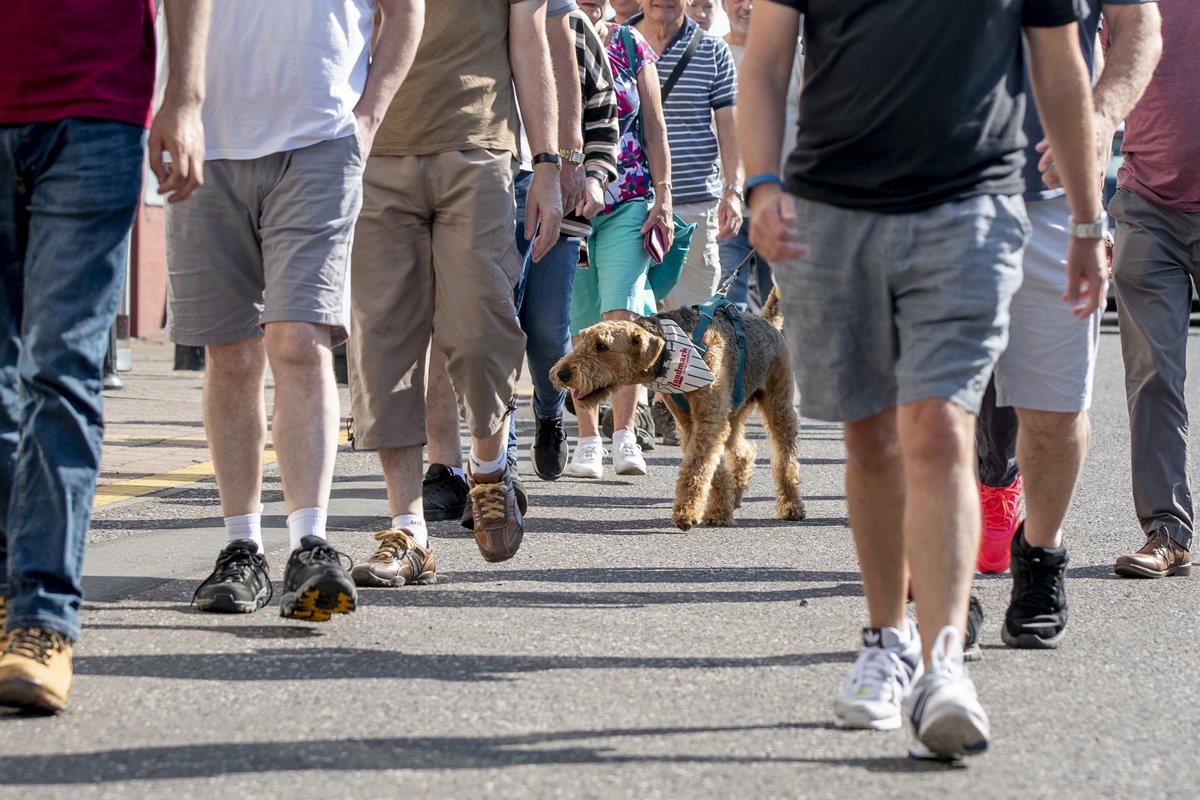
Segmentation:
<svg viewBox="0 0 1200 800">
<path fill-rule="evenodd" d="M 512 175 L 499 150 L 367 160 L 350 267 L 358 450 L 425 444 L 431 337 L 470 434 L 503 428 L 526 344 Z"/>
</svg>

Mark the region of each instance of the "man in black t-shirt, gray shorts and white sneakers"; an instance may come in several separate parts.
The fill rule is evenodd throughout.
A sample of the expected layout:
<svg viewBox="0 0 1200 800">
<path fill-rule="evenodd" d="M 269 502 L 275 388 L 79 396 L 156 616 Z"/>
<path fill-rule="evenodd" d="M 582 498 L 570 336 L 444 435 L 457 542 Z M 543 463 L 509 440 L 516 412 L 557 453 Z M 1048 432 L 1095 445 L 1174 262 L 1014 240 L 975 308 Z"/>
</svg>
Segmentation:
<svg viewBox="0 0 1200 800">
<path fill-rule="evenodd" d="M 800 14 L 804 124 L 785 181 Z M 1074 0 L 775 0 L 750 23 L 739 138 L 751 243 L 776 264 L 805 415 L 844 423 L 869 613 L 834 714 L 845 727 L 892 729 L 906 709 L 914 757 L 988 747 L 962 663 L 979 542 L 974 413 L 1030 236 L 1022 35 L 1070 211 L 1100 217 L 1075 22 Z M 1067 276 L 1072 312 L 1094 313 L 1099 239 L 1072 240 Z M 906 563 L 924 636 L 905 613 Z"/>
</svg>

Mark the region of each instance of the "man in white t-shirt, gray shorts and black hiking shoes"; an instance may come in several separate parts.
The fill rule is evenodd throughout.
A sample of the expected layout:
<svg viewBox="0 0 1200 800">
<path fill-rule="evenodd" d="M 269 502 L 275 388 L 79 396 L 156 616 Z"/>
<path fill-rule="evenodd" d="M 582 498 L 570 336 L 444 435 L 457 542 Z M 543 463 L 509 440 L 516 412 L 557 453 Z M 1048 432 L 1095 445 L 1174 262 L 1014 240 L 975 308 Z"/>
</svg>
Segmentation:
<svg viewBox="0 0 1200 800">
<path fill-rule="evenodd" d="M 167 211 L 168 332 L 206 347 L 204 428 L 228 539 L 196 591 L 202 610 L 253 612 L 272 594 L 259 505 L 268 363 L 292 553 L 281 614 L 354 610 L 354 583 L 325 541 L 338 426 L 330 348 L 346 339 L 366 154 L 422 22 L 422 0 L 260 0 L 214 14 L 209 180 Z"/>
</svg>

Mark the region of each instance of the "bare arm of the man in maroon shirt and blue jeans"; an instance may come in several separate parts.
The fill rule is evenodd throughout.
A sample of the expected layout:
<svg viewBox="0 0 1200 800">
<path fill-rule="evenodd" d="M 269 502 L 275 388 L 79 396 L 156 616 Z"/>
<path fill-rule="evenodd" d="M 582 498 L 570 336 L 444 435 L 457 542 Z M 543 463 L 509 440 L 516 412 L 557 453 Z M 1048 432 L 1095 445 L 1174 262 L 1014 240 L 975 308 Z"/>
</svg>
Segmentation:
<svg viewBox="0 0 1200 800">
<path fill-rule="evenodd" d="M 158 192 L 179 203 L 204 184 L 204 59 L 210 0 L 167 0 L 167 91 L 150 126 L 150 169 Z M 170 163 L 163 158 L 170 155 Z"/>
</svg>

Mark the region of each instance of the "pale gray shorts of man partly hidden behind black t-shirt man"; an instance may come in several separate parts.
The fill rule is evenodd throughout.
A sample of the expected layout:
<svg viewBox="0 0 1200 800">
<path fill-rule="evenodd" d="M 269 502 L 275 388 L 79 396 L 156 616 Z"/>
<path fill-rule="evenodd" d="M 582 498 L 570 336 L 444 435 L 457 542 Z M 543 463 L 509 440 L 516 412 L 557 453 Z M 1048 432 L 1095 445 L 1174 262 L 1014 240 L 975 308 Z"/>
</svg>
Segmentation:
<svg viewBox="0 0 1200 800">
<path fill-rule="evenodd" d="M 1103 307 L 1075 319 L 1067 290 L 1066 197 L 1026 206 L 1033 235 L 1021 288 L 1009 306 L 1008 347 L 996 362 L 996 404 L 1038 411 L 1086 411 L 1092 404 Z"/>
</svg>

